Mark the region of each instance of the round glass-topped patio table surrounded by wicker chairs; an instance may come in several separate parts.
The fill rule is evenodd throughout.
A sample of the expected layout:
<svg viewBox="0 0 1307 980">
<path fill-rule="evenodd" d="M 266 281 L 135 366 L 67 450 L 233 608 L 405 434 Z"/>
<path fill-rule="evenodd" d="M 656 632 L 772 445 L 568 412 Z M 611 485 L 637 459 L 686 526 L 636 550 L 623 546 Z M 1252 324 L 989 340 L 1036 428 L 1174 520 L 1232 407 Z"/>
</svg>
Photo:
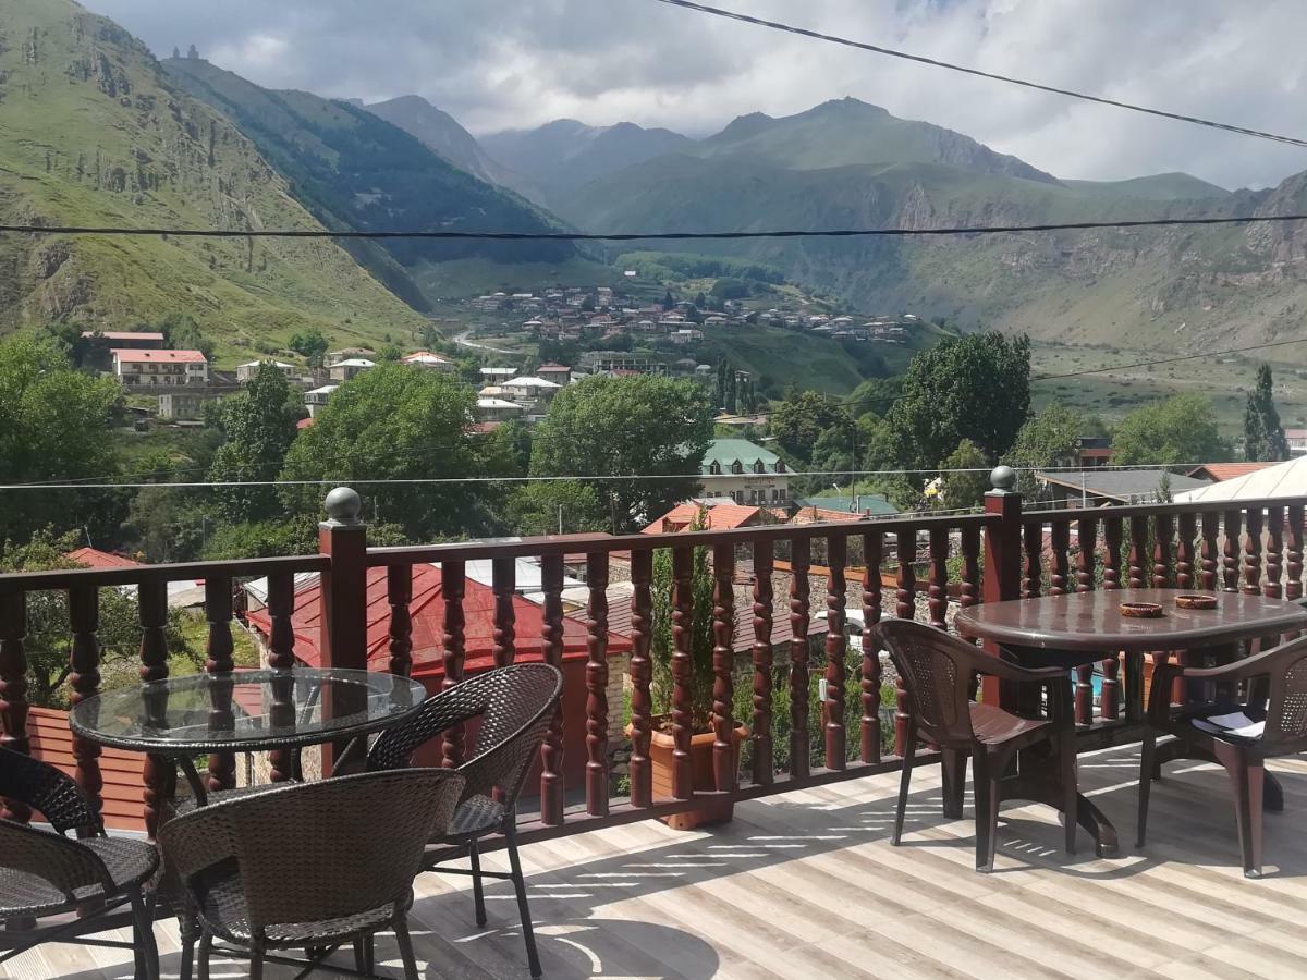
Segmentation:
<svg viewBox="0 0 1307 980">
<path fill-rule="evenodd" d="M 69 712 L 69 727 L 98 745 L 169 759 L 203 806 L 208 793 L 195 755 L 290 750 L 298 772 L 306 745 L 378 732 L 416 712 L 423 698 L 418 681 L 371 670 L 200 673 L 88 698 Z"/>
</svg>

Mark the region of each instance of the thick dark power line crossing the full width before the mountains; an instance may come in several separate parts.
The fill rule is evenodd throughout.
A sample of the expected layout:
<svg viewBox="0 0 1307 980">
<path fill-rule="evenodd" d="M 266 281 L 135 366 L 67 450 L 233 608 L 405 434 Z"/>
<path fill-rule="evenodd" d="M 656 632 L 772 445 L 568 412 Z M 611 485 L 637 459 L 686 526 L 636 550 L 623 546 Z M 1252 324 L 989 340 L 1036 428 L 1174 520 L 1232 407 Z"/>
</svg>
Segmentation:
<svg viewBox="0 0 1307 980">
<path fill-rule="evenodd" d="M 660 0 L 670 3 L 670 0 Z M 1210 225 L 1251 225 L 1259 221 L 1307 221 L 1307 214 L 1248 214 L 1206 218 L 1138 218 L 1134 221 L 1068 221 L 1042 225 L 978 225 L 955 227 L 878 227 L 878 229 L 779 229 L 771 231 L 353 231 L 331 229 L 169 229 L 122 227 L 106 225 L 0 225 L 0 234 L 16 235 L 114 235 L 128 238 L 307 238 L 307 239 L 472 239 L 495 242 L 684 242 L 736 240 L 758 238 L 941 238 L 949 235 L 1009 235 L 1030 231 L 1093 231 L 1132 227 L 1183 227 Z"/>
</svg>

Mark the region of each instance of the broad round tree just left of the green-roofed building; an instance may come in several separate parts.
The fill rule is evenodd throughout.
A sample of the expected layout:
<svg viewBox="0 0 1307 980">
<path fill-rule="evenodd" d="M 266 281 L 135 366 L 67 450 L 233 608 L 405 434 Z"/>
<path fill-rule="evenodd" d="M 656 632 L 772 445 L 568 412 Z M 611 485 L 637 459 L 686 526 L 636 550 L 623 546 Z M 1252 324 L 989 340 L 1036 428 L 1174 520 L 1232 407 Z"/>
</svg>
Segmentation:
<svg viewBox="0 0 1307 980">
<path fill-rule="evenodd" d="M 712 439 L 710 401 L 694 382 L 650 375 L 570 384 L 536 427 L 531 473 L 589 483 L 617 529 L 633 529 L 698 491 Z"/>
</svg>

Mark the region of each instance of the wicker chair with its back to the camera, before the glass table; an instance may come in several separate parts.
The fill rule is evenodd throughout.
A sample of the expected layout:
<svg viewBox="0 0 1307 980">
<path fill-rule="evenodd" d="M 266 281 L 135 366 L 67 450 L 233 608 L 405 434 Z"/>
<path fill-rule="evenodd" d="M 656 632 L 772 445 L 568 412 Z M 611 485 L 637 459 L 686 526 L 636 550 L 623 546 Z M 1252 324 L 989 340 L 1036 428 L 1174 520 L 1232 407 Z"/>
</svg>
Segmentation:
<svg viewBox="0 0 1307 980">
<path fill-rule="evenodd" d="M 406 770 L 291 783 L 210 804 L 159 828 L 163 858 L 183 882 L 203 929 L 200 976 L 213 941 L 263 964 L 290 962 L 272 950 L 320 950 L 344 942 L 371 972 L 370 939 L 393 929 L 404 975 L 418 976 L 406 912 L 433 828 L 448 826 L 464 777 Z"/>
</svg>

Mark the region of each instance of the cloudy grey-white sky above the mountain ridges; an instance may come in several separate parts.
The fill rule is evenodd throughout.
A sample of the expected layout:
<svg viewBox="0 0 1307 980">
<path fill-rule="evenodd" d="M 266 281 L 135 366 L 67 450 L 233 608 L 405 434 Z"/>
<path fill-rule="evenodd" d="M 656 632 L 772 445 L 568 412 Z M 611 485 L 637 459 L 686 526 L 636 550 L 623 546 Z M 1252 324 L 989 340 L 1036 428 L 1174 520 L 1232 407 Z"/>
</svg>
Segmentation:
<svg viewBox="0 0 1307 980">
<path fill-rule="evenodd" d="M 853 95 L 1064 178 L 1225 187 L 1307 150 L 846 50 L 656 0 L 84 0 L 156 54 L 271 88 L 425 95 L 476 133 L 561 116 L 707 135 Z M 720 0 L 721 7 L 1176 112 L 1307 137 L 1302 0 Z"/>
</svg>

